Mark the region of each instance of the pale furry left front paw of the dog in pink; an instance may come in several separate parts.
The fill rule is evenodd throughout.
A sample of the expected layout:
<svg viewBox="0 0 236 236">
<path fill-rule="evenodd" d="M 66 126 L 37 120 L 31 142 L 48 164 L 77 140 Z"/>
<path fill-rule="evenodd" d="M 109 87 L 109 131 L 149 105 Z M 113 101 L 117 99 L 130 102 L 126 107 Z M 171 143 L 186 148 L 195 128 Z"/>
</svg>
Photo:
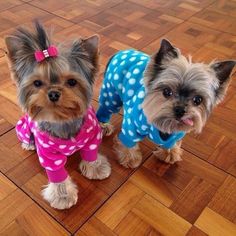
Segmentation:
<svg viewBox="0 0 236 236">
<path fill-rule="evenodd" d="M 68 209 L 76 204 L 78 200 L 77 186 L 67 177 L 62 183 L 49 183 L 42 190 L 43 198 L 50 206 L 59 210 Z"/>
</svg>

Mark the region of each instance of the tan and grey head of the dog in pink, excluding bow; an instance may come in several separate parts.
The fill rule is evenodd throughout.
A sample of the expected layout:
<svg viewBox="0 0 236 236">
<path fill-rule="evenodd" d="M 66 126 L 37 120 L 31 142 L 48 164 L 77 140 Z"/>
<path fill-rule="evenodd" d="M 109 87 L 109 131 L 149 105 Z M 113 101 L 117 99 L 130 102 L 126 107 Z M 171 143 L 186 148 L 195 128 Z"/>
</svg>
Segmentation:
<svg viewBox="0 0 236 236">
<path fill-rule="evenodd" d="M 98 37 L 79 39 L 57 57 L 37 62 L 36 50 L 51 43 L 41 25 L 6 38 L 12 77 L 23 110 L 37 121 L 65 122 L 82 117 L 92 97 L 98 69 Z"/>
</svg>

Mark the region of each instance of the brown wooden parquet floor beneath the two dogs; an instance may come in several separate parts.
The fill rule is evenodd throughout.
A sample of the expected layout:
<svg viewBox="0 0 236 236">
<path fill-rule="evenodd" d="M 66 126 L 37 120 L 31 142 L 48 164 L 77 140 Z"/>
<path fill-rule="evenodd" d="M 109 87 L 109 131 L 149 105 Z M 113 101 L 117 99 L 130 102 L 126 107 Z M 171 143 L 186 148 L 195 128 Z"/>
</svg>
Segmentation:
<svg viewBox="0 0 236 236">
<path fill-rule="evenodd" d="M 235 0 L 0 0 L 0 48 L 18 25 L 40 19 L 56 41 L 101 36 L 101 74 L 117 50 L 153 53 L 163 37 L 193 59 L 236 58 Z M 67 168 L 79 186 L 78 204 L 65 211 L 40 196 L 47 183 L 34 152 L 21 150 L 14 126 L 21 115 L 16 90 L 0 52 L 0 235 L 236 235 L 236 76 L 201 135 L 187 135 L 183 161 L 163 164 L 142 144 L 136 170 L 116 163 L 111 138 L 101 151 L 112 164 L 104 181 Z M 121 115 L 113 118 L 117 131 Z"/>
</svg>

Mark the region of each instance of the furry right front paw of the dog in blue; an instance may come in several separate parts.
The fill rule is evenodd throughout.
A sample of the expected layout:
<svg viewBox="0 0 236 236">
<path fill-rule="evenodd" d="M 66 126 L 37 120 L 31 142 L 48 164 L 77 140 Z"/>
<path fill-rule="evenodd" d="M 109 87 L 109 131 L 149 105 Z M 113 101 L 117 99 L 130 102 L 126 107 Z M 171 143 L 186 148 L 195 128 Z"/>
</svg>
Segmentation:
<svg viewBox="0 0 236 236">
<path fill-rule="evenodd" d="M 182 149 L 181 149 L 182 141 L 179 141 L 175 144 L 175 146 L 171 149 L 164 150 L 162 148 L 157 148 L 153 154 L 160 160 L 166 163 L 174 164 L 177 161 L 181 161 Z"/>
</svg>

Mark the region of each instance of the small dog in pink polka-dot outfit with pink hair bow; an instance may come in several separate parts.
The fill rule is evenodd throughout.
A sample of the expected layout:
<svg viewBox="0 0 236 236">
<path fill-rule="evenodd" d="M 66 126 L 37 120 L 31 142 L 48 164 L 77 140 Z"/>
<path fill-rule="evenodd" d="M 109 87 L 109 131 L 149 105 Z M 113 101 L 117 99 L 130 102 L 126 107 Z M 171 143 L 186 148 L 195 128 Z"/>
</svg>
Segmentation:
<svg viewBox="0 0 236 236">
<path fill-rule="evenodd" d="M 36 148 L 46 170 L 44 199 L 54 208 L 70 208 L 77 202 L 77 187 L 64 168 L 67 156 L 80 150 L 79 167 L 89 179 L 105 179 L 111 173 L 107 159 L 98 154 L 102 133 L 90 105 L 99 38 L 94 35 L 59 48 L 36 22 L 35 32 L 19 28 L 5 42 L 26 113 L 16 126 L 18 138 L 24 149 Z"/>
</svg>

